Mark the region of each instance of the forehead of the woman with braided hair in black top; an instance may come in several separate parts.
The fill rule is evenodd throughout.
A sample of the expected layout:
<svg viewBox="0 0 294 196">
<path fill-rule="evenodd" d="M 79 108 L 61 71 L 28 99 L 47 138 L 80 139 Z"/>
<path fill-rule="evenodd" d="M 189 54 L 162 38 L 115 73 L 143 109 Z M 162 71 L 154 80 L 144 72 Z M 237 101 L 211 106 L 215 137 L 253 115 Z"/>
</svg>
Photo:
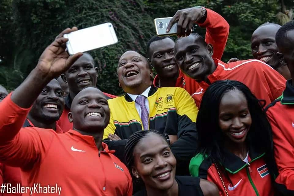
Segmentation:
<svg viewBox="0 0 294 196">
<path fill-rule="evenodd" d="M 134 154 L 155 154 L 168 147 L 167 142 L 158 134 L 150 133 L 139 141 L 134 149 Z"/>
</svg>

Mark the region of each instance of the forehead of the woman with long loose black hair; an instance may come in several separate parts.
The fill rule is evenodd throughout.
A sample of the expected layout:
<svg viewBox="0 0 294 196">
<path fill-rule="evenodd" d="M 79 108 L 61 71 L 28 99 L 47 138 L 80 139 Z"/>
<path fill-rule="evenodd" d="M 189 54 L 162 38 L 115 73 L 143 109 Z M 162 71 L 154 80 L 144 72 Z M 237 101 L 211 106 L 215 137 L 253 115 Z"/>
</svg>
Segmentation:
<svg viewBox="0 0 294 196">
<path fill-rule="evenodd" d="M 247 100 L 243 92 L 236 89 L 225 92 L 220 100 L 220 110 L 234 111 L 238 107 L 247 107 Z"/>
</svg>

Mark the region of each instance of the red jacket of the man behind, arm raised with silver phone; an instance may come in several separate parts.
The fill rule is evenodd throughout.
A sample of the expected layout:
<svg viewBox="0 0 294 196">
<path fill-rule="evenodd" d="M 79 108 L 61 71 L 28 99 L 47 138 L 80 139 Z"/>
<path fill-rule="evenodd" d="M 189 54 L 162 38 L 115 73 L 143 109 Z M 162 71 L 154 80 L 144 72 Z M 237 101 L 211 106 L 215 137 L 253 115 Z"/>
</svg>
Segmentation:
<svg viewBox="0 0 294 196">
<path fill-rule="evenodd" d="M 230 26 L 228 22 L 218 13 L 212 11 L 211 9 L 206 10 L 206 20 L 204 23 L 198 25 L 206 28 L 205 41 L 206 43 L 210 43 L 214 48 L 213 58 L 221 59 L 228 40 Z M 156 75 L 153 80 L 153 85 L 158 87 L 158 81 L 159 78 Z M 182 87 L 186 89 L 190 95 L 192 95 L 199 88 L 199 84 L 194 79 L 186 76 L 181 70 L 179 70 L 179 77 L 175 87 Z"/>
</svg>

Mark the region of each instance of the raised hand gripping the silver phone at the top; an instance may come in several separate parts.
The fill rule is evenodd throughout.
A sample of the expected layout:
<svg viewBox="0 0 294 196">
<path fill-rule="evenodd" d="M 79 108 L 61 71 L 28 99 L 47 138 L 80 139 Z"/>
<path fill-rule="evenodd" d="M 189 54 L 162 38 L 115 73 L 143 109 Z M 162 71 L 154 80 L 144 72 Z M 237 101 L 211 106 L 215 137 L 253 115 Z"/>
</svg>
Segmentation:
<svg viewBox="0 0 294 196">
<path fill-rule="evenodd" d="M 201 7 L 192 7 L 178 10 L 169 22 L 166 31 L 169 32 L 172 25 L 177 22 L 178 37 L 189 36 L 193 24 L 201 20 L 204 15 L 203 12 L 204 9 L 202 9 Z"/>
</svg>

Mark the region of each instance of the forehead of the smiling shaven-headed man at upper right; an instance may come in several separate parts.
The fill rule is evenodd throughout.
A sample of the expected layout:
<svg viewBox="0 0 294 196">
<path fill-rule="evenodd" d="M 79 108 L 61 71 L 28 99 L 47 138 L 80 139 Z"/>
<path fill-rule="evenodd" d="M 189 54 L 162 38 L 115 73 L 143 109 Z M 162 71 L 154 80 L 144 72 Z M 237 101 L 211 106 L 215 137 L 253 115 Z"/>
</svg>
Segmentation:
<svg viewBox="0 0 294 196">
<path fill-rule="evenodd" d="M 279 27 L 276 25 L 265 25 L 265 26 L 259 27 L 253 32 L 251 42 L 255 40 L 263 40 L 267 38 L 272 38 L 275 40 L 275 36 L 278 30 L 279 30 Z"/>
</svg>

